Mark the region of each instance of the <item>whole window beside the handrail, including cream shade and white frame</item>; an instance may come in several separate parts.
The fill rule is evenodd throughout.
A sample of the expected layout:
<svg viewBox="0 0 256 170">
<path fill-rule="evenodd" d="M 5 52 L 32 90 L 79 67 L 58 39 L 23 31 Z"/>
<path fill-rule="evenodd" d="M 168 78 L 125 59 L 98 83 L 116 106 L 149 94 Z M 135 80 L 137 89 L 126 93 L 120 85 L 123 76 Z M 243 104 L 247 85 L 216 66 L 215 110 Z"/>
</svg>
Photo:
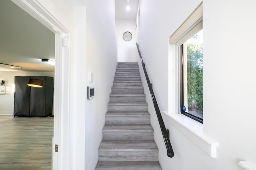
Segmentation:
<svg viewBox="0 0 256 170">
<path fill-rule="evenodd" d="M 178 104 L 175 110 L 203 123 L 203 20 L 202 3 L 170 36 L 174 48 Z M 178 49 L 178 52 L 176 50 Z M 173 100 L 174 101 L 174 100 Z"/>
</svg>

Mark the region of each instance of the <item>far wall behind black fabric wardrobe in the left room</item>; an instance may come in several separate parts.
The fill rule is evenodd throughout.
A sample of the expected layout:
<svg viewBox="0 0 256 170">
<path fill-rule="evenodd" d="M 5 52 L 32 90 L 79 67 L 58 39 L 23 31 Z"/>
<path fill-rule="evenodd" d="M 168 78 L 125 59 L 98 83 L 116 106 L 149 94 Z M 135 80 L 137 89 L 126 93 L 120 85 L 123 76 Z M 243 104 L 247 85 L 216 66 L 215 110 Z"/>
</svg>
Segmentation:
<svg viewBox="0 0 256 170">
<path fill-rule="evenodd" d="M 13 115 L 14 92 L 12 92 L 12 84 L 14 84 L 14 76 L 39 76 L 40 74 L 54 77 L 54 72 L 0 72 L 0 77 L 6 78 L 6 94 L 0 94 L 0 115 Z"/>
</svg>

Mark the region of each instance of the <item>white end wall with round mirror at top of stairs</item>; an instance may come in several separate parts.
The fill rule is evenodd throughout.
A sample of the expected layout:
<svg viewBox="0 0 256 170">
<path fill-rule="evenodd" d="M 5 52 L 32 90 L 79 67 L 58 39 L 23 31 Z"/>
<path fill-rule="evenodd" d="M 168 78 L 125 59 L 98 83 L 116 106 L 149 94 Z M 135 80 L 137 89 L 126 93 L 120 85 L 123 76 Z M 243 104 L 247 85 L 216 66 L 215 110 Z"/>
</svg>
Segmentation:
<svg viewBox="0 0 256 170">
<path fill-rule="evenodd" d="M 136 21 L 116 20 L 116 31 L 118 37 L 118 61 L 136 61 Z M 132 33 L 130 41 L 124 41 L 124 32 Z"/>
</svg>

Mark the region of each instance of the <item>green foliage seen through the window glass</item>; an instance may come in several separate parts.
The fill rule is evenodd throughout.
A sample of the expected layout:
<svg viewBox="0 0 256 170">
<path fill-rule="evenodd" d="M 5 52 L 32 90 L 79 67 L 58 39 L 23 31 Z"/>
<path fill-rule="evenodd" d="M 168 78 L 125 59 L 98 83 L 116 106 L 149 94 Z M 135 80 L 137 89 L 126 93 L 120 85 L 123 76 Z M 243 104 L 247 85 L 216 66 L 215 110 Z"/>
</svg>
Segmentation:
<svg viewBox="0 0 256 170">
<path fill-rule="evenodd" d="M 203 111 L 203 44 L 188 41 L 187 50 L 188 108 Z"/>
</svg>

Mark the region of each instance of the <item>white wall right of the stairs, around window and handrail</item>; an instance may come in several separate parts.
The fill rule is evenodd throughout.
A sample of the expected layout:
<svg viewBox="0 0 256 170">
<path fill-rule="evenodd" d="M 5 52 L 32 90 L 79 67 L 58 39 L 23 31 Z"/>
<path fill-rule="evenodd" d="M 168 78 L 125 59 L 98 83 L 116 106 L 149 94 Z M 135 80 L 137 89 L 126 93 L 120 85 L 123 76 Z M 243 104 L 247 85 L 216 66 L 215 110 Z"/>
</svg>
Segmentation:
<svg viewBox="0 0 256 170">
<path fill-rule="evenodd" d="M 160 110 L 168 110 L 168 37 L 200 0 L 140 0 L 138 44 Z M 184 5 L 186 4 L 186 5 Z M 145 88 L 154 139 L 163 170 L 241 170 L 240 160 L 256 160 L 256 2 L 204 0 L 204 135 L 219 143 L 211 158 L 170 123 L 175 156 L 168 158 L 152 100 Z M 181 10 L 182 9 L 182 10 Z M 150 41 L 149 41 L 150 40 Z M 174 72 L 175 68 L 170 68 Z M 141 70 L 142 71 L 142 70 Z M 174 72 L 174 75 L 177 74 Z M 172 82 L 170 86 L 176 86 Z M 146 86 L 145 78 L 143 84 Z M 170 94 L 174 94 L 171 92 Z M 173 104 L 170 106 L 174 107 Z M 171 108 L 170 108 L 171 109 Z M 169 109 L 169 110 L 170 110 Z"/>
</svg>

